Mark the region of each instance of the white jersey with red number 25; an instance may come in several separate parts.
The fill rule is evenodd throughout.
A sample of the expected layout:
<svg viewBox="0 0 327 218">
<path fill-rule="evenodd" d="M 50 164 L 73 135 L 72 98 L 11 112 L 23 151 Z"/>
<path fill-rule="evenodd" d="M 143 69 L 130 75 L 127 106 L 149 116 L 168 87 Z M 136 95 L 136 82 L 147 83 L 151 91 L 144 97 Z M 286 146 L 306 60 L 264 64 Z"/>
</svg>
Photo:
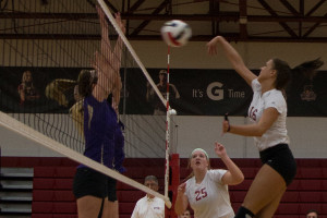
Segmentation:
<svg viewBox="0 0 327 218">
<path fill-rule="evenodd" d="M 186 181 L 185 195 L 194 210 L 194 218 L 232 218 L 228 185 L 221 182 L 227 170 L 208 170 L 201 184 L 195 178 Z"/>
</svg>

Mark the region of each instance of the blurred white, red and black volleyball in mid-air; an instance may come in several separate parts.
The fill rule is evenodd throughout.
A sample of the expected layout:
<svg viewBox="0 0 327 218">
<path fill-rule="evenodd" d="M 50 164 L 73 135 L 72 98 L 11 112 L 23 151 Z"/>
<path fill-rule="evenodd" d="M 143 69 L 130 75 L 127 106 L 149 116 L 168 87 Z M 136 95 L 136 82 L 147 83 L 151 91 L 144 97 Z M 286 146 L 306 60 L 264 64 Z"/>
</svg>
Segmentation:
<svg viewBox="0 0 327 218">
<path fill-rule="evenodd" d="M 183 21 L 168 21 L 161 27 L 161 36 L 168 46 L 181 47 L 185 46 L 192 36 L 192 29 Z"/>
</svg>

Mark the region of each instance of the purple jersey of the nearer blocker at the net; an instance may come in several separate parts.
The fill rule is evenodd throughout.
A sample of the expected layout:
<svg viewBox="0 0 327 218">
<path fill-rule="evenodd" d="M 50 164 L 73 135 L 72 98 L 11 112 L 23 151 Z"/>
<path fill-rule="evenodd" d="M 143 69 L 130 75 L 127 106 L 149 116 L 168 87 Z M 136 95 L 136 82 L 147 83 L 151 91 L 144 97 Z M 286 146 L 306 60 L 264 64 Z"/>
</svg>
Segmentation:
<svg viewBox="0 0 327 218">
<path fill-rule="evenodd" d="M 85 97 L 83 109 L 85 136 L 84 155 L 112 168 L 117 114 L 107 100 L 99 102 L 92 95 Z"/>
</svg>

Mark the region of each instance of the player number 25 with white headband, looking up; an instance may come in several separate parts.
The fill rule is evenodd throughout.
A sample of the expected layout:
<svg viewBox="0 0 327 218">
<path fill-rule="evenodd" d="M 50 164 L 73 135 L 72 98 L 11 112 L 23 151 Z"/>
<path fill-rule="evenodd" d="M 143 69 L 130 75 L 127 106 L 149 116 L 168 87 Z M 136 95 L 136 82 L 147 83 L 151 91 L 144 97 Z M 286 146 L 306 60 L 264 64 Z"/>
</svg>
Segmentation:
<svg viewBox="0 0 327 218">
<path fill-rule="evenodd" d="M 227 170 L 210 170 L 207 153 L 202 148 L 192 152 L 190 179 L 179 185 L 174 210 L 182 215 L 189 206 L 196 218 L 232 218 L 228 185 L 235 185 L 244 180 L 239 167 L 229 158 L 223 145 L 215 143 L 215 153 L 226 165 Z"/>
</svg>

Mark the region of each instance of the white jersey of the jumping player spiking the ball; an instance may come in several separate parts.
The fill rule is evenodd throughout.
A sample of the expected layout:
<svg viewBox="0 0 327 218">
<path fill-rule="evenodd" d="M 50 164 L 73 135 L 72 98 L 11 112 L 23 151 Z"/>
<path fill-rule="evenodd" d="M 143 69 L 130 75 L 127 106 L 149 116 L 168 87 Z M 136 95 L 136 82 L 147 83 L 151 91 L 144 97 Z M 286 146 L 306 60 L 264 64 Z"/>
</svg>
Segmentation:
<svg viewBox="0 0 327 218">
<path fill-rule="evenodd" d="M 254 137 L 255 145 L 259 150 L 284 143 L 289 144 L 288 131 L 286 128 L 287 102 L 282 93 L 277 89 L 268 90 L 262 94 L 262 85 L 257 78 L 252 81 L 253 99 L 249 108 L 249 118 L 251 122 L 258 122 L 263 112 L 267 108 L 276 108 L 279 116 L 275 123 L 261 137 Z"/>
</svg>

